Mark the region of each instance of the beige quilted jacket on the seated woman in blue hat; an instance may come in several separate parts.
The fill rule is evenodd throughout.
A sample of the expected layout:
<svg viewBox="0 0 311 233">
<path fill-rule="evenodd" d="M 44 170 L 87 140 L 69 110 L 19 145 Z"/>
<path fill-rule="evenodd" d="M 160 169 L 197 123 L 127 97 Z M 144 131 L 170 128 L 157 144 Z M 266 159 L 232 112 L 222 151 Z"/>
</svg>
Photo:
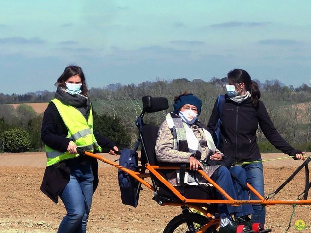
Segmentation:
<svg viewBox="0 0 311 233">
<path fill-rule="evenodd" d="M 193 133 L 198 138 L 201 145 L 201 158 L 197 159 L 204 160 L 205 158 L 207 158 L 208 155 L 212 154 L 213 151 L 211 151 L 207 147 L 206 136 L 203 132 L 203 129 L 196 124 L 193 124 L 191 126 L 191 129 L 193 130 Z M 189 163 L 189 159 L 191 156 L 193 156 L 193 154 L 189 152 L 174 150 L 173 148 L 174 136 L 165 120 L 159 128 L 158 136 L 156 139 L 155 154 L 157 160 L 163 163 Z M 217 150 L 217 152 L 219 151 Z M 211 176 L 218 167 L 219 165 L 206 166 L 204 167 L 204 171 L 207 173 L 208 176 Z M 168 181 L 174 186 L 180 186 L 180 180 L 179 178 L 177 179 L 176 171 L 168 173 L 166 174 L 166 176 Z M 204 180 L 203 182 L 206 182 L 206 180 Z M 187 183 L 187 181 L 185 181 L 185 183 Z"/>
</svg>

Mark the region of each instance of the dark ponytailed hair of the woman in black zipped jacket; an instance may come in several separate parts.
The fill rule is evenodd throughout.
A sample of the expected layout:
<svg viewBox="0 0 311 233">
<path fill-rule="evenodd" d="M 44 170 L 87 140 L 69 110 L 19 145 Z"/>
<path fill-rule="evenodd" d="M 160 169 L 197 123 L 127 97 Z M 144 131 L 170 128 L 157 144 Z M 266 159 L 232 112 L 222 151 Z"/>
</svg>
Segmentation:
<svg viewBox="0 0 311 233">
<path fill-rule="evenodd" d="M 257 83 L 251 80 L 251 76 L 243 69 L 233 69 L 228 73 L 228 79 L 234 83 L 244 83 L 246 90 L 251 93 L 252 104 L 254 107 L 258 106 L 261 93 Z"/>
</svg>

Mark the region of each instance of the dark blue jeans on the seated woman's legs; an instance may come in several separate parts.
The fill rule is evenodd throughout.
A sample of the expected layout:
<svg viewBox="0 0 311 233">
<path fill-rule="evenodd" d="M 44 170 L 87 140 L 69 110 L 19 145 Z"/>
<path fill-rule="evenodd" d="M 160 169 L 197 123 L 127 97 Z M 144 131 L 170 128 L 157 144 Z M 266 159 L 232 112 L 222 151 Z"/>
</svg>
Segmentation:
<svg viewBox="0 0 311 233">
<path fill-rule="evenodd" d="M 237 167 L 231 171 L 239 179 L 239 181 L 245 181 L 246 174 L 243 172 L 242 167 Z M 233 183 L 230 171 L 224 167 L 219 167 L 211 176 L 215 181 L 231 198 L 235 200 L 248 200 L 248 191 L 241 186 L 241 183 Z M 235 188 L 238 187 L 238 188 Z M 220 200 L 226 200 L 226 198 L 218 191 L 216 191 L 216 197 Z M 246 199 L 247 198 L 247 199 Z M 218 211 L 221 217 L 228 215 L 235 215 L 242 217 L 253 214 L 253 208 L 251 205 L 232 206 L 227 204 L 218 204 Z"/>
</svg>

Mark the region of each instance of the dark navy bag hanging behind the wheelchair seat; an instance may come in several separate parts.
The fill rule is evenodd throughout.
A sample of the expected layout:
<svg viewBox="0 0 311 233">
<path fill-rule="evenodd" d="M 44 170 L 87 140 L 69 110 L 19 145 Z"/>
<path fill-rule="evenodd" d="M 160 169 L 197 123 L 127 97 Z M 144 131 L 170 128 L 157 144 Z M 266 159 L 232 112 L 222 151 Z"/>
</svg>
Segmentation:
<svg viewBox="0 0 311 233">
<path fill-rule="evenodd" d="M 119 165 L 132 171 L 138 171 L 137 156 L 138 154 L 133 150 L 124 148 L 119 158 Z M 118 181 L 122 203 L 136 207 L 141 183 L 121 169 L 118 169 Z"/>
</svg>

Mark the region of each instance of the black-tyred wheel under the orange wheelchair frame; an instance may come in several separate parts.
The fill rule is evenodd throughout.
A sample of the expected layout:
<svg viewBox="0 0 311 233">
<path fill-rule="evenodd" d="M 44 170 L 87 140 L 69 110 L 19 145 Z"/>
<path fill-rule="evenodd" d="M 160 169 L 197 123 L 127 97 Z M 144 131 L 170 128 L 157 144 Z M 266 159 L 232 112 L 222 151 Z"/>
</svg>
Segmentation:
<svg viewBox="0 0 311 233">
<path fill-rule="evenodd" d="M 196 213 L 183 213 L 175 216 L 165 227 L 163 233 L 196 233 L 200 228 L 207 224 L 205 216 Z M 217 233 L 211 226 L 205 233 Z"/>
</svg>

